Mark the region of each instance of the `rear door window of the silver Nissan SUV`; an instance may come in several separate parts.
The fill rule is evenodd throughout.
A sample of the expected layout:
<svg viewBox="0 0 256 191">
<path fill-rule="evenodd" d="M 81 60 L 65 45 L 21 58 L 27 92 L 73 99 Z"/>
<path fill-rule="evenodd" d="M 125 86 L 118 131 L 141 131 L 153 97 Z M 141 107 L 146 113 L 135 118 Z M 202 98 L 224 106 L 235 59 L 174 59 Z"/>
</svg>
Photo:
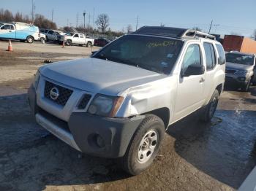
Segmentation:
<svg viewBox="0 0 256 191">
<path fill-rule="evenodd" d="M 206 52 L 206 70 L 214 69 L 214 66 L 216 66 L 214 45 L 208 42 L 204 42 L 203 47 Z"/>
</svg>

